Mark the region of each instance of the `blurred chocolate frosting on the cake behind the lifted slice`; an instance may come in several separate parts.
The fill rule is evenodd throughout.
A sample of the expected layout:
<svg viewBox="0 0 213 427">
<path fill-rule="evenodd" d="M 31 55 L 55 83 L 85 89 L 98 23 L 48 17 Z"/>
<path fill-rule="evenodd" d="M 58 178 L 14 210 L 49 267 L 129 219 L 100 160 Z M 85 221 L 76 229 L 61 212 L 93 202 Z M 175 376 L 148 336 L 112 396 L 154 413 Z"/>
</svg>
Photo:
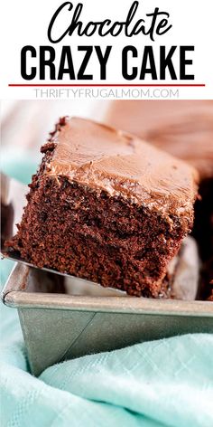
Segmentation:
<svg viewBox="0 0 213 427">
<path fill-rule="evenodd" d="M 114 101 L 106 121 L 188 161 L 201 178 L 213 176 L 212 100 Z"/>
</svg>

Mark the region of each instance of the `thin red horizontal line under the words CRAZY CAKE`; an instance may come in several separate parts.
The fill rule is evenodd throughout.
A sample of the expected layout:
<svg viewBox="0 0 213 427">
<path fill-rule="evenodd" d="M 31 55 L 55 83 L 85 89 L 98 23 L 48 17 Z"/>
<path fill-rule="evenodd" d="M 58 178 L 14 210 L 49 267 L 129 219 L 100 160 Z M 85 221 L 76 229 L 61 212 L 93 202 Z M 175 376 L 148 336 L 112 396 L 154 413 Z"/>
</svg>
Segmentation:
<svg viewBox="0 0 213 427">
<path fill-rule="evenodd" d="M 10 88 L 140 88 L 140 87 L 149 87 L 149 88 L 164 88 L 164 87 L 172 87 L 172 88 L 203 88 L 206 86 L 205 83 L 143 83 L 143 84 L 102 84 L 102 83 L 74 83 L 74 84 L 64 84 L 64 83 L 9 83 L 8 86 Z"/>
</svg>

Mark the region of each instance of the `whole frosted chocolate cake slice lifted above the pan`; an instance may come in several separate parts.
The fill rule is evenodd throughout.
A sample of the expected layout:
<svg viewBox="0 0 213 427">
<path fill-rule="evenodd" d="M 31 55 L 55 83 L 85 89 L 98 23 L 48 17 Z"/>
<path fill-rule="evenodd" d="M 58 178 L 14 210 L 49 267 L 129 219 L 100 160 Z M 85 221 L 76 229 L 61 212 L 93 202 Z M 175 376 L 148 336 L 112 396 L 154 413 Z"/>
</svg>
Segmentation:
<svg viewBox="0 0 213 427">
<path fill-rule="evenodd" d="M 195 170 L 87 119 L 60 119 L 42 153 L 10 250 L 41 268 L 158 298 L 192 227 Z"/>
</svg>

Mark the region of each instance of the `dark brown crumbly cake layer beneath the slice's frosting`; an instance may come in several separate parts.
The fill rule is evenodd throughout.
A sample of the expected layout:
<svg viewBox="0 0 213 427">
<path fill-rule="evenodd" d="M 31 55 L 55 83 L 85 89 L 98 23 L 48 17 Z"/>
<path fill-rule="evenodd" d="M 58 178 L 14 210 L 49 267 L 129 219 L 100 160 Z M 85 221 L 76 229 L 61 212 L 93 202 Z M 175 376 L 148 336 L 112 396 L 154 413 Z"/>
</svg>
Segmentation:
<svg viewBox="0 0 213 427">
<path fill-rule="evenodd" d="M 171 232 L 170 223 L 147 209 L 59 180 L 60 185 L 46 176 L 34 177 L 16 238 L 23 259 L 130 294 L 157 297 L 168 259 L 179 250 L 185 232 L 179 217 L 173 217 Z"/>
</svg>

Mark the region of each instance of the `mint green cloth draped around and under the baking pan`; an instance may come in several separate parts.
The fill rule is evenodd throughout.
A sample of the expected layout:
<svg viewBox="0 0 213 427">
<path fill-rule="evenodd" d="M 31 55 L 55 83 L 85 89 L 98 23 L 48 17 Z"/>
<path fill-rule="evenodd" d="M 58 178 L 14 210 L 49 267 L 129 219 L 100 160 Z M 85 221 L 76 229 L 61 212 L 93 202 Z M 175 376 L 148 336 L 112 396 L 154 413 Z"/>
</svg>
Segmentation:
<svg viewBox="0 0 213 427">
<path fill-rule="evenodd" d="M 1 262 L 3 284 L 12 265 Z M 2 427 L 212 427 L 213 335 L 84 356 L 35 378 L 17 312 L 1 304 L 0 393 Z"/>
</svg>

